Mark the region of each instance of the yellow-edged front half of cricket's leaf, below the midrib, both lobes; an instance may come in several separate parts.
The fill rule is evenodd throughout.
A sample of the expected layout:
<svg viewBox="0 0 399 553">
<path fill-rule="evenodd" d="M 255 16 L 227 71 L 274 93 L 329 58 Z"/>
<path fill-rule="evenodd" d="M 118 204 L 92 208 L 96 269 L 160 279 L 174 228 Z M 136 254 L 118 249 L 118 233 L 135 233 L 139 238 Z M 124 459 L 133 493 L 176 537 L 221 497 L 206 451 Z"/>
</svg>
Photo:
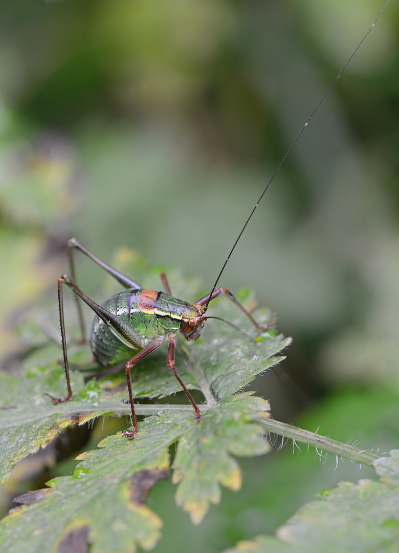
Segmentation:
<svg viewBox="0 0 399 553">
<path fill-rule="evenodd" d="M 29 551 L 46 553 L 63 540 L 80 536 L 93 544 L 93 553 L 130 552 L 138 545 L 152 549 L 161 521 L 144 502 L 155 482 L 166 477 L 169 446 L 181 438 L 175 474 L 185 507 L 190 497 L 192 505 L 200 501 L 192 492 L 185 498 L 184 489 L 206 488 L 200 505 L 203 515 L 209 500 L 216 503 L 220 498 L 218 482 L 235 490 L 240 487 L 239 467 L 228 453 L 269 451 L 260 427 L 253 424 L 268 408 L 266 401 L 243 394 L 209 409 L 201 424 L 191 413 L 172 410 L 147 418 L 134 440 L 122 434 L 109 436 L 96 450 L 77 457 L 82 462 L 73 476 L 55 478 L 49 482 L 51 488 L 19 498 L 28 504 L 13 509 L 0 523 L 0 543 L 12 553 L 27 551 L 26 544 Z M 203 447 L 200 457 L 192 456 L 193 443 Z M 187 469 L 189 457 L 199 470 Z M 194 506 L 191 513 L 194 508 L 198 512 Z"/>
</svg>

